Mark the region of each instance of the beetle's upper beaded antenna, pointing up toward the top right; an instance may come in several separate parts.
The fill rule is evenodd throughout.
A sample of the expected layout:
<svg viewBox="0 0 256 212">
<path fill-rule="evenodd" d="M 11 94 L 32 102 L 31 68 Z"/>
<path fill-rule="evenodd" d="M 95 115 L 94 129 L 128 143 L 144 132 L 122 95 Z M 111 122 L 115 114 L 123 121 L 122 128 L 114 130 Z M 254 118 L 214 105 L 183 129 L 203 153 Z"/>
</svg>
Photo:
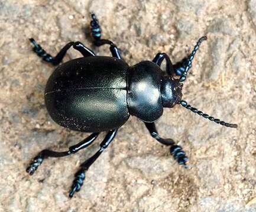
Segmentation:
<svg viewBox="0 0 256 212">
<path fill-rule="evenodd" d="M 180 82 L 183 82 L 186 80 L 186 76 L 187 76 L 187 72 L 189 71 L 189 69 L 192 66 L 192 61 L 195 57 L 195 54 L 197 52 L 197 50 L 199 49 L 200 44 L 203 41 L 206 41 L 207 37 L 203 36 L 201 38 L 199 38 L 199 40 L 197 41 L 193 51 L 191 52 L 191 54 L 189 55 L 189 57 L 187 57 L 184 61 L 183 61 L 183 65 L 184 65 L 184 71 L 182 72 L 182 75 L 180 76 Z"/>
</svg>

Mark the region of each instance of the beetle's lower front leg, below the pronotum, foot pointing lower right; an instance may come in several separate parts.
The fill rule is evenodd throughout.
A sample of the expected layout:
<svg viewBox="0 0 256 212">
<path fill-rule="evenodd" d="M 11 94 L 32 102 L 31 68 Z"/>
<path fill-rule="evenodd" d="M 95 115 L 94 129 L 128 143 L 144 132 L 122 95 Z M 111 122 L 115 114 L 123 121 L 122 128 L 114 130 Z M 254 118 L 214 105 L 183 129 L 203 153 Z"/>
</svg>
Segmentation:
<svg viewBox="0 0 256 212">
<path fill-rule="evenodd" d="M 155 138 L 155 140 L 159 141 L 161 144 L 171 146 L 170 153 L 171 155 L 173 155 L 174 160 L 177 160 L 180 165 L 184 165 L 184 167 L 187 168 L 188 165 L 186 164 L 186 162 L 188 161 L 188 158 L 186 156 L 186 153 L 182 150 L 182 147 L 176 145 L 174 141 L 170 138 L 161 138 L 158 135 L 154 122 L 144 122 L 144 124 L 147 127 L 148 131 L 150 131 L 151 136 Z"/>
</svg>

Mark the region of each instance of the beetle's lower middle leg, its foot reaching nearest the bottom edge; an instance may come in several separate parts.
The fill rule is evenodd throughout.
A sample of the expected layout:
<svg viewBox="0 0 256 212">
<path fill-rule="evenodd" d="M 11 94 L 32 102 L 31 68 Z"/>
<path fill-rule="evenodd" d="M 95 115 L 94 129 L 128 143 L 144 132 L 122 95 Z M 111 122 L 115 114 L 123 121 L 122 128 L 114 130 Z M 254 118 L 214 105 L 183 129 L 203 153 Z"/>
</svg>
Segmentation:
<svg viewBox="0 0 256 212">
<path fill-rule="evenodd" d="M 99 155 L 101 155 L 101 153 L 108 147 L 111 141 L 114 140 L 117 131 L 118 129 L 110 130 L 100 144 L 99 150 L 94 155 L 92 155 L 92 157 L 90 157 L 88 160 L 80 165 L 80 170 L 77 171 L 77 173 L 74 175 L 72 188 L 69 192 L 70 198 L 73 197 L 75 192 L 80 190 L 81 186 L 83 185 L 83 180 L 85 180 L 85 171 L 89 169 L 90 165 L 92 165 L 97 160 Z"/>
</svg>

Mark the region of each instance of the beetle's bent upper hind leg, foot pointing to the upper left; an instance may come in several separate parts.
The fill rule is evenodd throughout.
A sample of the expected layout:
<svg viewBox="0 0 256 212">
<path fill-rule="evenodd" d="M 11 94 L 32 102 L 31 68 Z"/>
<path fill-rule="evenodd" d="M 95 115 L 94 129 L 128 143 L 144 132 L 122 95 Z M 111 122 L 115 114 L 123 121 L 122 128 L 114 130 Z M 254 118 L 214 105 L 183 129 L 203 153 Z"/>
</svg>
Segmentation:
<svg viewBox="0 0 256 212">
<path fill-rule="evenodd" d="M 83 57 L 95 56 L 95 53 L 91 49 L 85 47 L 85 45 L 77 41 L 77 42 L 69 42 L 60 50 L 60 52 L 55 57 L 53 57 L 50 54 L 48 54 L 39 44 L 37 44 L 34 38 L 30 38 L 29 40 L 34 45 L 33 51 L 37 53 L 39 57 L 42 57 L 44 61 L 50 62 L 53 65 L 60 64 L 60 62 L 66 55 L 67 50 L 70 47 L 73 47 L 74 49 L 79 51 L 83 55 Z"/>
</svg>

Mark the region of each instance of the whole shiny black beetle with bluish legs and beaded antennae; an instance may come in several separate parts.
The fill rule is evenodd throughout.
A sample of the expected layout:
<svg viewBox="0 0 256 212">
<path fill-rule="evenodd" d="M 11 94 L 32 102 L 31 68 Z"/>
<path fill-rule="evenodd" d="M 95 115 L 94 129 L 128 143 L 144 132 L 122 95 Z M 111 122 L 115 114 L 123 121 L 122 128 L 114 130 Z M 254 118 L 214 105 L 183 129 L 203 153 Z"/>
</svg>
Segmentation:
<svg viewBox="0 0 256 212">
<path fill-rule="evenodd" d="M 130 115 L 144 122 L 151 136 L 161 144 L 170 146 L 170 154 L 180 165 L 187 168 L 188 158 L 182 147 L 170 138 L 161 138 L 155 127 L 155 120 L 163 114 L 163 108 L 173 108 L 180 104 L 196 114 L 208 118 L 225 127 L 236 128 L 214 118 L 182 100 L 182 86 L 186 80 L 199 45 L 207 37 L 200 38 L 193 51 L 182 61 L 172 64 L 165 53 L 155 55 L 153 61 L 142 61 L 129 65 L 121 58 L 118 47 L 108 40 L 101 39 L 101 27 L 95 14 L 91 15 L 90 32 L 98 47 L 109 45 L 112 57 L 96 56 L 81 42 L 69 42 L 56 57 L 52 57 L 37 42 L 30 38 L 33 51 L 44 61 L 59 65 L 70 47 L 83 57 L 72 59 L 59 65 L 47 81 L 44 98 L 51 118 L 62 127 L 80 132 L 92 132 L 80 143 L 69 147 L 68 151 L 43 150 L 31 161 L 27 173 L 32 175 L 48 157 L 64 157 L 88 147 L 99 133 L 108 131 L 99 150 L 80 165 L 74 175 L 69 197 L 80 190 L 85 180 L 85 172 L 99 155 L 114 140 L 118 128 L 125 124 Z M 166 72 L 161 71 L 165 59 Z"/>
</svg>

